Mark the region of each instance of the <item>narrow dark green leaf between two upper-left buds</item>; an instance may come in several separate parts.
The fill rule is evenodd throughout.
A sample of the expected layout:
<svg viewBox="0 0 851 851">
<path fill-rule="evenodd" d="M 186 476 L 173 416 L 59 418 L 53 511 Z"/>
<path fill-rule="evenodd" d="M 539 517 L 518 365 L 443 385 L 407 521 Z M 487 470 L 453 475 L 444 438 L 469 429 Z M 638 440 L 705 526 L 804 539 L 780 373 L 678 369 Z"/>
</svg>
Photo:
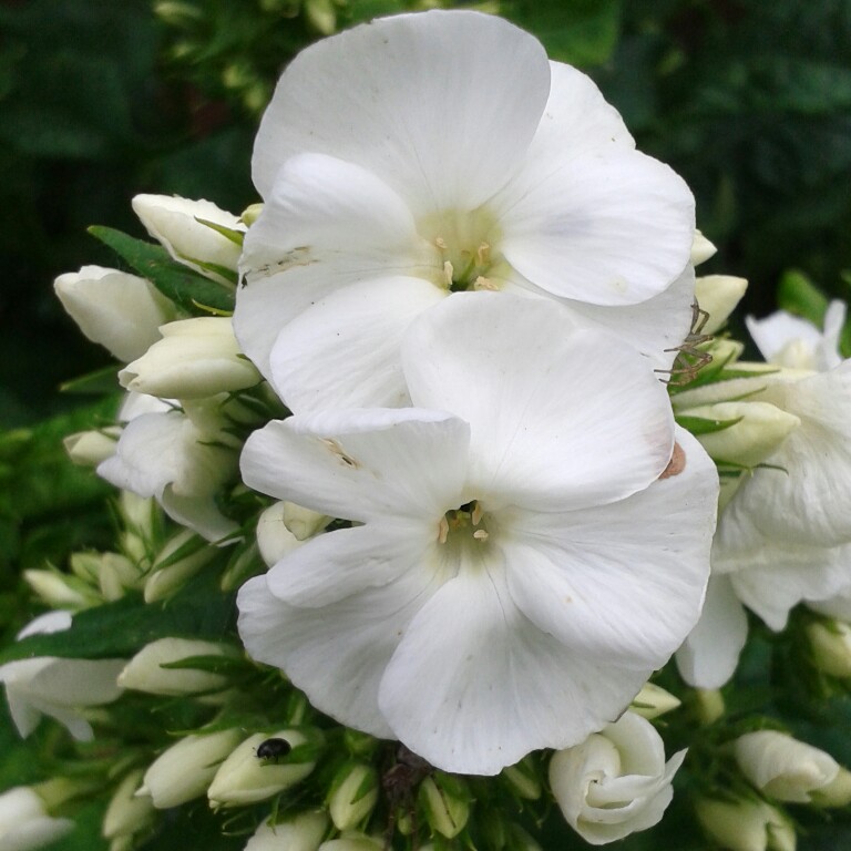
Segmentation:
<svg viewBox="0 0 851 851">
<path fill-rule="evenodd" d="M 186 312 L 193 315 L 204 312 L 198 309 L 199 305 L 208 305 L 216 310 L 233 311 L 234 291 L 232 289 L 175 263 L 162 246 L 135 239 L 111 227 L 94 225 L 89 228 L 89 233 L 112 248 L 166 298 Z"/>
</svg>

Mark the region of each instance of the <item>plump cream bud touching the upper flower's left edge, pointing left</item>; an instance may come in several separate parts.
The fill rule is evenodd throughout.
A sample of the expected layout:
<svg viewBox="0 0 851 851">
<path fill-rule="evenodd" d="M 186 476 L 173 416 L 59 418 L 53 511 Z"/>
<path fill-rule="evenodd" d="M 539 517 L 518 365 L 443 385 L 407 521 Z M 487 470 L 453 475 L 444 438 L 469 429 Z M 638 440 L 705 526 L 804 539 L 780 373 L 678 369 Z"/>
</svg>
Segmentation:
<svg viewBox="0 0 851 851">
<path fill-rule="evenodd" d="M 230 319 L 202 316 L 162 326 L 163 338 L 119 372 L 122 387 L 148 396 L 199 399 L 256 385 Z"/>
</svg>

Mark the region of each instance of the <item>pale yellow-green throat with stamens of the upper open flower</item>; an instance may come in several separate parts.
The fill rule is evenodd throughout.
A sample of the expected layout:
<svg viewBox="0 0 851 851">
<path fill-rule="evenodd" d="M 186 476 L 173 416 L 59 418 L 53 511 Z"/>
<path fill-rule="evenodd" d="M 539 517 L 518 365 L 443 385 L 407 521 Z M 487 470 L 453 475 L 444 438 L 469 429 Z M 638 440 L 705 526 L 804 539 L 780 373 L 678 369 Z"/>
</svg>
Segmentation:
<svg viewBox="0 0 851 851">
<path fill-rule="evenodd" d="M 422 218 L 417 229 L 437 248 L 438 286 L 452 293 L 500 288 L 489 274 L 504 262 L 496 247 L 498 228 L 485 209 L 443 211 Z"/>
</svg>

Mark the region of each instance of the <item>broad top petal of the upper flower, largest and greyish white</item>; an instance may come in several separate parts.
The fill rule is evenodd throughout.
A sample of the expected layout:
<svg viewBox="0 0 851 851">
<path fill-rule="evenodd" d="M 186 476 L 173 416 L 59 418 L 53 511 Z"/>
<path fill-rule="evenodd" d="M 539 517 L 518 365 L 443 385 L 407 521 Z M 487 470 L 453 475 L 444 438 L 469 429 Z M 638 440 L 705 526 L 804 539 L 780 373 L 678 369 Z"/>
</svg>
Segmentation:
<svg viewBox="0 0 851 851">
<path fill-rule="evenodd" d="M 306 151 L 357 163 L 409 204 L 472 209 L 505 182 L 546 103 L 541 44 L 504 20 L 430 11 L 357 27 L 303 51 L 264 115 L 254 182 L 268 197 Z"/>
</svg>

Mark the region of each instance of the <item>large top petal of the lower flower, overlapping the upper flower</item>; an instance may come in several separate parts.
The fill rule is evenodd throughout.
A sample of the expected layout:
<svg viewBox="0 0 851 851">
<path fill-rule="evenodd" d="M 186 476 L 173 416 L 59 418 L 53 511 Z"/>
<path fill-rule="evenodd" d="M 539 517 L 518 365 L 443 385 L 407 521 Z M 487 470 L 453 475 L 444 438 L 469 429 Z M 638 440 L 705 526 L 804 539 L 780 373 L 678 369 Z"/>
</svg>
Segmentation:
<svg viewBox="0 0 851 851">
<path fill-rule="evenodd" d="M 646 360 L 572 330 L 542 300 L 454 294 L 412 324 L 402 363 L 414 404 L 470 423 L 469 483 L 496 504 L 609 502 L 646 488 L 670 459 L 670 406 Z"/>
</svg>

